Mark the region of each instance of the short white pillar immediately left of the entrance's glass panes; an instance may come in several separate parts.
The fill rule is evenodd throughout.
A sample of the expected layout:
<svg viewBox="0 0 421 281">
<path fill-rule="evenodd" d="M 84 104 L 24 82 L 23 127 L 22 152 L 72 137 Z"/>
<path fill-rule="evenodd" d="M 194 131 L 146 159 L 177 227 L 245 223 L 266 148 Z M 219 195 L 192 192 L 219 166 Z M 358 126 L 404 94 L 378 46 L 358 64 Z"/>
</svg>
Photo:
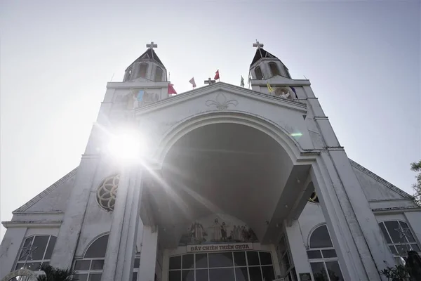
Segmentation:
<svg viewBox="0 0 421 281">
<path fill-rule="evenodd" d="M 143 226 L 139 281 L 154 281 L 157 247 L 158 230 L 154 226 Z"/>
</svg>

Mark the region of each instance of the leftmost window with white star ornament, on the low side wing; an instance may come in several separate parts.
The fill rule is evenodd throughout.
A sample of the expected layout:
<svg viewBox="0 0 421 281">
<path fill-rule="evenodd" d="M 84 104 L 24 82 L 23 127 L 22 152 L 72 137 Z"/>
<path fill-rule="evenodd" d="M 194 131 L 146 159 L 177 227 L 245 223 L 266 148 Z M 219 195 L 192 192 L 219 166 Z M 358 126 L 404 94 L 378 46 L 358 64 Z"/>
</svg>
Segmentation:
<svg viewBox="0 0 421 281">
<path fill-rule="evenodd" d="M 57 237 L 53 235 L 35 235 L 27 237 L 20 248 L 18 262 L 15 270 L 27 268 L 35 271 L 36 274 L 44 274 L 39 271 L 41 263 L 50 263 L 51 254 Z"/>
</svg>

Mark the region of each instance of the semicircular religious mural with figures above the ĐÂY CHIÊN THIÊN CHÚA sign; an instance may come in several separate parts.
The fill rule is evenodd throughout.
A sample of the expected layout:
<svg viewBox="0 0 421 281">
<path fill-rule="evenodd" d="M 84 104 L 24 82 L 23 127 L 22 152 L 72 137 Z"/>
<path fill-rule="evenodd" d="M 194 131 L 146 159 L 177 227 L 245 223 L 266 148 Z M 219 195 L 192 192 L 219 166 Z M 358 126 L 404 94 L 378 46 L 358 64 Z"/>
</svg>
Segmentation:
<svg viewBox="0 0 421 281">
<path fill-rule="evenodd" d="M 234 216 L 214 214 L 200 218 L 187 227 L 180 246 L 225 242 L 258 242 L 253 230 Z"/>
</svg>

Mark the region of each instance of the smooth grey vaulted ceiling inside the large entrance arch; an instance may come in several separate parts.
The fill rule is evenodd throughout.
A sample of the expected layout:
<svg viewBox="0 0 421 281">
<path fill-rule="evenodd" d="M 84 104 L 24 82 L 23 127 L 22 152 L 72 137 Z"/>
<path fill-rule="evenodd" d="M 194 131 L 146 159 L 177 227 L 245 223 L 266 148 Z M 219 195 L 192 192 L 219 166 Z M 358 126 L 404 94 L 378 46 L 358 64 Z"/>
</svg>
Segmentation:
<svg viewBox="0 0 421 281">
<path fill-rule="evenodd" d="M 222 213 L 265 237 L 293 162 L 273 138 L 240 124 L 211 124 L 182 136 L 166 155 L 165 184 L 151 188 L 152 208 L 168 246 L 186 226 Z M 279 209 L 279 208 L 278 208 Z"/>
</svg>

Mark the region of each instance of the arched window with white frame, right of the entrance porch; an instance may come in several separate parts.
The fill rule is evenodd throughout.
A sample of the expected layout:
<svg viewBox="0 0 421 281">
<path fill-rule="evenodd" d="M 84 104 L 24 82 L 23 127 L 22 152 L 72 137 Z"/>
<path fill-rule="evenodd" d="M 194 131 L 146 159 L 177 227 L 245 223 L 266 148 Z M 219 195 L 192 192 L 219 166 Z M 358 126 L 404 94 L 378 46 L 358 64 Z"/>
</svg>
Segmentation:
<svg viewBox="0 0 421 281">
<path fill-rule="evenodd" d="M 333 248 L 332 240 L 326 225 L 316 228 L 310 235 L 307 250 L 315 281 L 342 281 L 342 272 L 338 256 Z"/>
</svg>

